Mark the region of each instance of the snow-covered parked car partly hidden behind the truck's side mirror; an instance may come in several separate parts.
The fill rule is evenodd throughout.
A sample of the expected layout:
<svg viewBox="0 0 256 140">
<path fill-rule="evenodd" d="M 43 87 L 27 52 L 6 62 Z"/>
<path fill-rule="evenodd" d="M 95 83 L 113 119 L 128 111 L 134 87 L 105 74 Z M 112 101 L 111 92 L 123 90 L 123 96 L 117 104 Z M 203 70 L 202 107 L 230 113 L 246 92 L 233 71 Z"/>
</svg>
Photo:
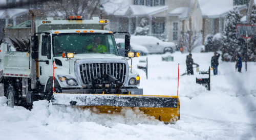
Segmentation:
<svg viewBox="0 0 256 140">
<path fill-rule="evenodd" d="M 116 38 L 116 45 L 117 45 L 117 49 L 119 51 L 119 55 L 124 57 L 124 52 L 125 52 L 125 49 L 124 49 L 124 39 L 122 38 Z M 138 45 L 138 44 L 135 44 L 135 43 L 130 43 L 130 50 L 133 51 L 133 52 L 139 52 L 140 55 L 146 55 L 148 53 L 148 50 L 146 47 L 142 46 L 142 45 Z"/>
</svg>

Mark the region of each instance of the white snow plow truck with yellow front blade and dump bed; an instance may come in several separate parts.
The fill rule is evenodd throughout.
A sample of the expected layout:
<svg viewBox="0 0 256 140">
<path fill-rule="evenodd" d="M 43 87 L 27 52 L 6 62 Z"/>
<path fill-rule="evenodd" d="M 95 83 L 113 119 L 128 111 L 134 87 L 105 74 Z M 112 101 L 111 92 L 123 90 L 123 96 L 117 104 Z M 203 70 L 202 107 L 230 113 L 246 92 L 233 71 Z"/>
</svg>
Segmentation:
<svg viewBox="0 0 256 140">
<path fill-rule="evenodd" d="M 96 107 L 100 113 L 139 107 L 164 123 L 180 119 L 178 96 L 144 95 L 139 73 L 128 61 L 139 57 L 130 51 L 125 34 L 125 57 L 119 56 L 114 34 L 104 30 L 108 19 L 67 15 L 65 20 L 35 20 L 31 27 L 4 29 L 0 47 L 0 82 L 10 107 L 32 109 L 33 101 L 52 105 Z M 12 51 L 13 46 L 16 50 Z"/>
</svg>

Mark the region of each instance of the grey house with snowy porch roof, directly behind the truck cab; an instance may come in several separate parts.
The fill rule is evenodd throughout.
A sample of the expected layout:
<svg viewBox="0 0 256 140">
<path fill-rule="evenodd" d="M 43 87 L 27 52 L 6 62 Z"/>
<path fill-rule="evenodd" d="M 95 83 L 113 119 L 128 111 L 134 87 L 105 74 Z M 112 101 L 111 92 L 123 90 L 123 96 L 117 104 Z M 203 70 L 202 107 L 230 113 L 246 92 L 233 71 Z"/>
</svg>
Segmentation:
<svg viewBox="0 0 256 140">
<path fill-rule="evenodd" d="M 127 8 L 110 14 L 109 30 L 134 34 L 142 18 L 148 21 L 149 34 L 166 38 L 168 0 L 131 0 Z"/>
</svg>

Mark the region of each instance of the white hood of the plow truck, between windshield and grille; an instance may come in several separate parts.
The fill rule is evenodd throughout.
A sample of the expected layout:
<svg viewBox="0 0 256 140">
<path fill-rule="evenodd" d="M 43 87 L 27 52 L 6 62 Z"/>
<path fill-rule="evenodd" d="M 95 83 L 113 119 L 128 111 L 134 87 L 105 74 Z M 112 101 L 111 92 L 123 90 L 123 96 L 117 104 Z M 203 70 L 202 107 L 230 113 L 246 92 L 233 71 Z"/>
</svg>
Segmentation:
<svg viewBox="0 0 256 140">
<path fill-rule="evenodd" d="M 94 54 L 75 54 L 74 58 L 67 61 L 67 58 L 62 57 L 54 57 L 54 59 L 58 59 L 62 63 L 62 67 L 70 67 L 74 68 L 74 62 L 76 60 L 83 60 L 83 59 L 123 59 L 121 56 L 117 56 L 114 54 L 102 54 L 102 53 L 94 53 Z M 55 66 L 58 67 L 57 63 Z"/>
</svg>

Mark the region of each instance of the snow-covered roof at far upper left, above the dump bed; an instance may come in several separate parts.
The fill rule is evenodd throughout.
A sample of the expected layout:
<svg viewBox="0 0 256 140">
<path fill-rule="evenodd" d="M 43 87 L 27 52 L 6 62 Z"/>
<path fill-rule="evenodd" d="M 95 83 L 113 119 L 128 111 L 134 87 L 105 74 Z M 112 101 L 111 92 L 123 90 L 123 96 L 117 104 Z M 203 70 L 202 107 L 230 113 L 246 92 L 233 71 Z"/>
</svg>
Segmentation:
<svg viewBox="0 0 256 140">
<path fill-rule="evenodd" d="M 5 9 L 0 10 L 0 19 L 17 17 L 29 13 L 27 9 Z"/>
</svg>

